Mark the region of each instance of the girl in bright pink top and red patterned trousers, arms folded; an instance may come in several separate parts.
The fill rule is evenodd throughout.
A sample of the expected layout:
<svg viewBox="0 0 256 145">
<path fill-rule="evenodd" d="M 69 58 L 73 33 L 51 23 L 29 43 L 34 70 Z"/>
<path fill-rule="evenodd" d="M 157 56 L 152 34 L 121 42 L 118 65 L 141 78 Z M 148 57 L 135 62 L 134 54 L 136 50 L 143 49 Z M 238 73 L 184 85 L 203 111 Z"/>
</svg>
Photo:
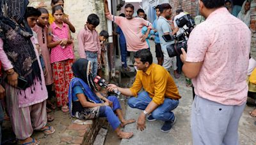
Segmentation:
<svg viewBox="0 0 256 145">
<path fill-rule="evenodd" d="M 48 29 L 47 47 L 51 48 L 50 61 L 55 83 L 57 106 L 61 107 L 61 111 L 68 112 L 68 85 L 73 76 L 71 66 L 74 62 L 72 39 L 68 25 L 62 21 L 64 15 L 62 6 L 54 6 L 52 8 L 52 15 L 55 21 Z"/>
</svg>

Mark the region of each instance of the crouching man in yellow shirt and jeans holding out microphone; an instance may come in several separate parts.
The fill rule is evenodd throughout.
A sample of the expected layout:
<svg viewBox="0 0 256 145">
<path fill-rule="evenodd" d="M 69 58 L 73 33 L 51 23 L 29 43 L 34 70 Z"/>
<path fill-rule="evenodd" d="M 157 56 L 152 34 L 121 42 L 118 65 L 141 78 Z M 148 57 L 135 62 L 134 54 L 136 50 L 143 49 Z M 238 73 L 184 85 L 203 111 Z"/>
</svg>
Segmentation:
<svg viewBox="0 0 256 145">
<path fill-rule="evenodd" d="M 179 91 L 170 73 L 164 67 L 154 64 L 148 49 L 135 53 L 134 66 L 138 72 L 131 88 L 120 88 L 110 84 L 109 91 L 117 89 L 123 95 L 134 96 L 128 100 L 132 108 L 143 110 L 137 121 L 137 129 L 145 128 L 145 120 L 163 120 L 161 131 L 168 132 L 175 123 L 172 110 L 179 105 Z M 140 92 L 143 88 L 143 92 Z M 140 92 L 140 93 L 139 93 Z"/>
</svg>

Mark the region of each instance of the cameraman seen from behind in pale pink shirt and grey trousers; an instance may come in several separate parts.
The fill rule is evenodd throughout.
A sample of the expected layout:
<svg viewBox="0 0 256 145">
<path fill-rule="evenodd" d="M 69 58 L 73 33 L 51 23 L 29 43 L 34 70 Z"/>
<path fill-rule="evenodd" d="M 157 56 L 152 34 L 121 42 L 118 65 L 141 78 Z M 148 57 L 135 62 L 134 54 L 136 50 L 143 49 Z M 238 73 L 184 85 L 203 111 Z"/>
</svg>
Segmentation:
<svg viewBox="0 0 256 145">
<path fill-rule="evenodd" d="M 250 29 L 232 16 L 223 0 L 199 0 L 207 18 L 188 40 L 180 58 L 185 76 L 192 78 L 195 99 L 191 111 L 193 144 L 239 144 L 237 128 L 248 85 Z"/>
</svg>

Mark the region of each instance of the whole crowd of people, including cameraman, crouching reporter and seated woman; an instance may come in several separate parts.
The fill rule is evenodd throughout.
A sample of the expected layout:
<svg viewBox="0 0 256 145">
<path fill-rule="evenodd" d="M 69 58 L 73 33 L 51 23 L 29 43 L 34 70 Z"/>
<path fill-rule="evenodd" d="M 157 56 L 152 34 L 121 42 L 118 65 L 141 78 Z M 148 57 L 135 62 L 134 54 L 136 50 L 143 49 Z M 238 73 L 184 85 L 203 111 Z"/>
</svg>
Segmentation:
<svg viewBox="0 0 256 145">
<path fill-rule="evenodd" d="M 76 28 L 63 10 L 63 0 L 52 0 L 50 12 L 42 6 L 29 7 L 28 3 L 0 1 L 0 118 L 4 109 L 19 144 L 39 144 L 31 137 L 33 130 L 54 134 L 54 127 L 47 126 L 47 121 L 54 120 L 49 113 L 56 107 L 81 120 L 106 117 L 119 138 L 131 138 L 133 133 L 124 132 L 121 127 L 135 120 L 125 120 L 118 99 L 102 94 L 94 82 L 97 75 L 102 76 L 102 68 L 108 67 L 104 42 L 109 34 L 95 30 L 100 24 L 98 15 L 88 15 L 74 48 L 71 32 Z M 247 97 L 254 97 L 256 92 L 256 61 L 249 57 L 250 1 L 240 7 L 229 0 L 199 0 L 201 17 L 206 20 L 198 20 L 191 32 L 188 52 L 182 49 L 181 55 L 169 57 L 167 46 L 176 42 L 166 41 L 163 36 L 179 35 L 188 29 L 186 25 L 178 27 L 176 22 L 188 13 L 179 9 L 172 15 L 170 4 L 159 4 L 157 18 L 151 24 L 142 9 L 133 17 L 132 4 L 126 4 L 119 16 L 112 15 L 108 0 L 104 0 L 106 18 L 118 25 L 114 34 L 120 38 L 122 69 L 131 71 L 127 52 L 136 69 L 130 88 L 109 84 L 107 90 L 118 90 L 130 97 L 130 107 L 142 110 L 138 130 L 145 129 L 146 120 L 164 121 L 162 132 L 172 129 L 177 119 L 172 111 L 181 98 L 170 75 L 172 68 L 175 78 L 184 72 L 187 86 L 193 83 L 195 89 L 191 112 L 193 144 L 239 143 L 239 119 Z M 156 44 L 157 64 L 150 52 L 150 38 Z M 77 60 L 74 49 L 79 53 Z M 56 102 L 52 102 L 54 96 Z M 256 116 L 256 109 L 250 114 Z"/>
</svg>

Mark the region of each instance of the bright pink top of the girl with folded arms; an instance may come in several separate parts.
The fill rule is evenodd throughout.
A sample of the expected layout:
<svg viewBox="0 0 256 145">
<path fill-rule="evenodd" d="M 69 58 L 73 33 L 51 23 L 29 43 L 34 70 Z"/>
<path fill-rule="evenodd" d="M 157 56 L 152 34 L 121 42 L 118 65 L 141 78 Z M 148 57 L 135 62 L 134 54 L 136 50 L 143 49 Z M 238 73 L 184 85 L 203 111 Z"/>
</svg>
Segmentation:
<svg viewBox="0 0 256 145">
<path fill-rule="evenodd" d="M 57 36 L 59 39 L 68 39 L 69 28 L 68 25 L 63 23 L 62 27 L 58 27 L 55 22 L 50 26 L 52 28 L 52 34 Z M 52 37 L 52 42 L 58 41 L 56 38 Z M 65 48 L 62 48 L 60 45 L 51 49 L 51 64 L 54 62 L 60 62 L 62 60 L 74 59 L 74 52 L 72 45 L 66 45 Z"/>
</svg>

